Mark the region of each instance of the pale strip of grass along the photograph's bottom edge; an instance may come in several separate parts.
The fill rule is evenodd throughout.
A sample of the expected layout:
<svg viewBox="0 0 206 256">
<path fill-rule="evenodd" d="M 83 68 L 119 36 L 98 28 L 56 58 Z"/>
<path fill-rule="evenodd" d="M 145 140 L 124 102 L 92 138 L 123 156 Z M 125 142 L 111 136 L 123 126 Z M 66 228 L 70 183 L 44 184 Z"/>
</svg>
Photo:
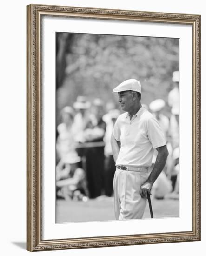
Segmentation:
<svg viewBox="0 0 206 256">
<path fill-rule="evenodd" d="M 153 217 L 168 218 L 179 216 L 179 200 L 152 199 Z M 87 202 L 57 200 L 57 223 L 64 222 L 91 222 L 115 220 L 113 213 L 113 197 L 100 196 Z M 147 204 L 144 219 L 150 218 L 149 205 Z"/>
</svg>

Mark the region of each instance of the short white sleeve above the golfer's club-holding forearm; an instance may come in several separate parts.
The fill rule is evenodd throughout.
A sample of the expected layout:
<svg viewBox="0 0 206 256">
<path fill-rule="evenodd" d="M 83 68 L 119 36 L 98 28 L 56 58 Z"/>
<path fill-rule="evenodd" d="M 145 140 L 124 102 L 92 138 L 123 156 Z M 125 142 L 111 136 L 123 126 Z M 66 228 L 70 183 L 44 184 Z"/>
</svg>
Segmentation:
<svg viewBox="0 0 206 256">
<path fill-rule="evenodd" d="M 164 133 L 156 118 L 152 117 L 147 120 L 146 130 L 153 148 L 159 148 L 166 145 Z"/>
</svg>

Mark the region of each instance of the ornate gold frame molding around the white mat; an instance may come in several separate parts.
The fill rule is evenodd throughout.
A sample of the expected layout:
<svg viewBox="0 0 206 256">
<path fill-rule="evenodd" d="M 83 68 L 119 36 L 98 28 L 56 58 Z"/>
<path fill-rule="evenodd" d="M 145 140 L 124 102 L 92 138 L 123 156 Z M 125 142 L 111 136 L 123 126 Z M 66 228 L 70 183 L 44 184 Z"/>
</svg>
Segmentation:
<svg viewBox="0 0 206 256">
<path fill-rule="evenodd" d="M 189 24 L 193 28 L 192 231 L 42 240 L 41 237 L 41 46 L 42 16 Z M 27 6 L 27 250 L 78 249 L 200 240 L 200 15 L 65 6 Z"/>
</svg>

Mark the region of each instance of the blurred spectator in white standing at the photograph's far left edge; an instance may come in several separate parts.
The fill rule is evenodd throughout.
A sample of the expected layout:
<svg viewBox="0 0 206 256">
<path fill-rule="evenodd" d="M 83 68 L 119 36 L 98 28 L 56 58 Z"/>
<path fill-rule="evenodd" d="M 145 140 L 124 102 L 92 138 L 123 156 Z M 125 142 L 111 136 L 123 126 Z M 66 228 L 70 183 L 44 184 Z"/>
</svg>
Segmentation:
<svg viewBox="0 0 206 256">
<path fill-rule="evenodd" d="M 63 165 L 67 161 L 67 155 L 75 150 L 76 143 L 74 141 L 74 110 L 73 108 L 66 106 L 61 110 L 62 123 L 57 126 L 57 155 L 58 165 L 57 168 L 62 169 Z"/>
</svg>

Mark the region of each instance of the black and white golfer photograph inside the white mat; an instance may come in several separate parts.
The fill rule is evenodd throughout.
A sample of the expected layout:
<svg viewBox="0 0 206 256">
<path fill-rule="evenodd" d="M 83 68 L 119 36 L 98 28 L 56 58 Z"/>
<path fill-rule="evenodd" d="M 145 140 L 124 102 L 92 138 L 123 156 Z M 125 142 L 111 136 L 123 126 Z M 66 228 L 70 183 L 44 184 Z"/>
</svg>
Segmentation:
<svg viewBox="0 0 206 256">
<path fill-rule="evenodd" d="M 178 38 L 56 32 L 56 223 L 179 217 L 179 85 Z"/>
</svg>

